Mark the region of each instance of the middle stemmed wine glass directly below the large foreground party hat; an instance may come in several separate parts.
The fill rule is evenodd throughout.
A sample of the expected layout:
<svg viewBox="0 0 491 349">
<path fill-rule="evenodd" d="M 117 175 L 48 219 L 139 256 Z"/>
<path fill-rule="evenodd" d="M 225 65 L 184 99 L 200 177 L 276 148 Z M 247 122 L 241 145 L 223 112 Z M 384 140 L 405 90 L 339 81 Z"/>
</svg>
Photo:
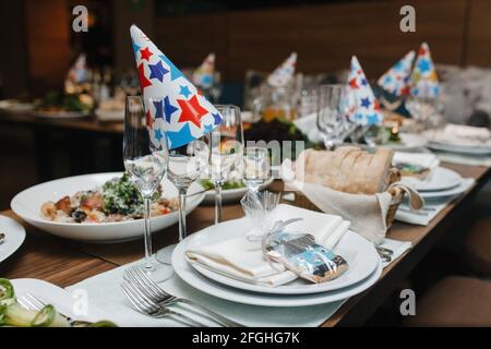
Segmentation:
<svg viewBox="0 0 491 349">
<path fill-rule="evenodd" d="M 206 171 L 209 165 L 209 146 L 207 137 L 197 140 L 169 149 L 167 178 L 176 185 L 179 192 L 179 242 L 185 239 L 188 231 L 185 227 L 185 200 L 189 186 Z M 169 245 L 158 251 L 157 261 L 171 264 L 171 255 L 176 245 Z"/>
</svg>

